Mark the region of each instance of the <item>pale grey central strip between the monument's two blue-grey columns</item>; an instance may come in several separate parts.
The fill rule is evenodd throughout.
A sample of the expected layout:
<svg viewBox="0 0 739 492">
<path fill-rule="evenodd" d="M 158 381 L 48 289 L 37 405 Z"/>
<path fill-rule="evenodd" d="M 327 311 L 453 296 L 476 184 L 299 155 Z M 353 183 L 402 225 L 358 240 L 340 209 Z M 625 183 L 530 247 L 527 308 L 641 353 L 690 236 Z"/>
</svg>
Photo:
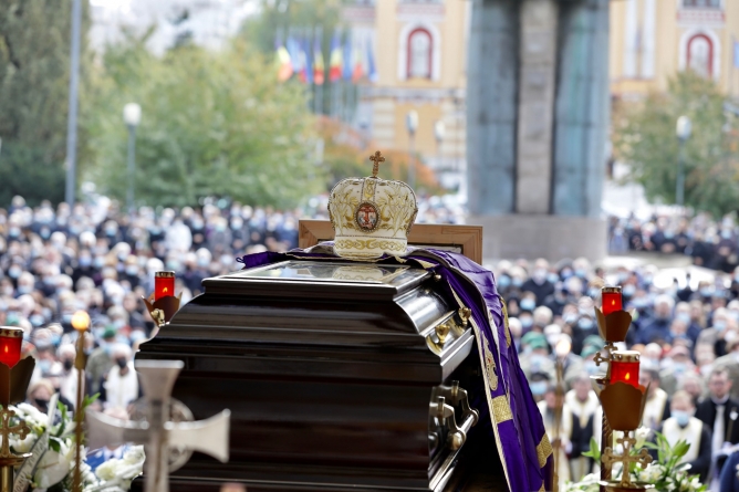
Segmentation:
<svg viewBox="0 0 739 492">
<path fill-rule="evenodd" d="M 523 0 L 521 3 L 518 213 L 550 212 L 558 7 L 555 0 Z"/>
</svg>

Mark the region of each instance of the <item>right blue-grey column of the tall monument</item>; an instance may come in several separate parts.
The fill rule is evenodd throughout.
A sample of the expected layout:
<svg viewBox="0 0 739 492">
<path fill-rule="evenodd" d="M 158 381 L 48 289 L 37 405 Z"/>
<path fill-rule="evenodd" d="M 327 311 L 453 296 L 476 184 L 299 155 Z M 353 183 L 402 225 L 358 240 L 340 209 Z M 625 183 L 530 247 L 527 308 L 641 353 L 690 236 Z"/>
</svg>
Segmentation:
<svg viewBox="0 0 739 492">
<path fill-rule="evenodd" d="M 597 218 L 610 118 L 608 0 L 562 4 L 552 211 Z"/>
</svg>

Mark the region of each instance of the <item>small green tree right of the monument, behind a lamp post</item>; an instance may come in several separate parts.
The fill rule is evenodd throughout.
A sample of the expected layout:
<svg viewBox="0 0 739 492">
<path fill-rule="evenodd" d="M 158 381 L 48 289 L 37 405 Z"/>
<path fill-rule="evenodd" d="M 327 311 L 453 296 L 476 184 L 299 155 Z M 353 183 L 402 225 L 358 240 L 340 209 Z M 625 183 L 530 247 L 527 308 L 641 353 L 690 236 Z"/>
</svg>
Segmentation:
<svg viewBox="0 0 739 492">
<path fill-rule="evenodd" d="M 717 85 L 693 72 L 677 75 L 666 93 L 614 111 L 617 157 L 632 166 L 632 179 L 649 199 L 675 202 L 679 144 L 677 118 L 693 122 L 685 144 L 685 205 L 716 216 L 737 210 L 739 163 L 737 124 L 726 115 Z"/>
</svg>

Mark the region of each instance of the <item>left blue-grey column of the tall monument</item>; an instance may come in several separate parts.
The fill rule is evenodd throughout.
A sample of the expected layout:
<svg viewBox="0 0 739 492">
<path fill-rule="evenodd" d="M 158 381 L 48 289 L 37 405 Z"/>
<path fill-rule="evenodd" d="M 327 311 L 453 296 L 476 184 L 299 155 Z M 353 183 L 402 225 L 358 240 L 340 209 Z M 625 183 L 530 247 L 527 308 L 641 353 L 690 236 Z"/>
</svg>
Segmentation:
<svg viewBox="0 0 739 492">
<path fill-rule="evenodd" d="M 468 50 L 467 178 L 471 213 L 516 207 L 519 0 L 473 0 Z"/>
</svg>

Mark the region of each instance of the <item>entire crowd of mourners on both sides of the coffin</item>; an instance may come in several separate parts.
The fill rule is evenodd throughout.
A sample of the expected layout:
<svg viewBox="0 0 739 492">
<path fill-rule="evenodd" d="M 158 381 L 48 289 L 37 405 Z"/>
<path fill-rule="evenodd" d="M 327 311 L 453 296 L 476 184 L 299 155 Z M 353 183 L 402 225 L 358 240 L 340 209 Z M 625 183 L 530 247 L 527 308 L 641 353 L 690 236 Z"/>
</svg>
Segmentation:
<svg viewBox="0 0 739 492">
<path fill-rule="evenodd" d="M 45 411 L 59 394 L 74 409 L 76 332 L 71 323 L 84 310 L 92 318 L 85 392 L 98 394 L 94 405 L 110 415 L 125 416 L 140 395 L 133 355 L 154 328 L 142 302 L 153 291 L 154 272 L 175 271 L 176 289 L 187 302 L 205 278 L 237 270 L 238 255 L 296 247 L 298 218 L 327 218 L 325 201 L 316 197 L 302 210 L 279 211 L 206 200 L 194 208 L 142 207 L 126 213 L 105 197 L 35 208 L 13 199 L 0 209 L 0 325 L 21 327 L 24 350 L 38 360 L 28 402 Z M 694 440 L 686 460 L 705 480 L 720 478 L 719 457 L 730 457 L 739 443 L 739 383 L 733 384 L 739 377 L 739 269 L 729 269 L 736 243 L 726 243 L 733 241 L 733 227 L 727 219 L 720 228 L 701 229 L 698 224 L 708 223 L 701 217 L 627 221 L 623 231 L 621 222 L 612 224 L 615 235 L 625 234 L 626 250 L 684 252 L 717 268 L 714 281 L 697 285 L 657 287 L 652 265 L 605 271 L 583 259 L 493 265 L 521 366 L 550 431 L 558 362 L 564 369 L 568 394 L 559 439 L 566 469 L 561 477 L 566 472 L 577 480 L 596 465 L 583 453 L 600 436 L 600 405 L 590 376 L 604 370 L 595 362 L 603 341 L 593 311 L 604 284 L 621 285 L 625 308 L 635 310 L 622 348 L 642 353 L 641 378 L 650 383 L 645 427 Z M 464 219 L 454 203 L 431 198 L 419 200 L 418 220 Z M 714 254 L 722 260 L 702 255 L 698 240 L 714 241 Z"/>
</svg>

